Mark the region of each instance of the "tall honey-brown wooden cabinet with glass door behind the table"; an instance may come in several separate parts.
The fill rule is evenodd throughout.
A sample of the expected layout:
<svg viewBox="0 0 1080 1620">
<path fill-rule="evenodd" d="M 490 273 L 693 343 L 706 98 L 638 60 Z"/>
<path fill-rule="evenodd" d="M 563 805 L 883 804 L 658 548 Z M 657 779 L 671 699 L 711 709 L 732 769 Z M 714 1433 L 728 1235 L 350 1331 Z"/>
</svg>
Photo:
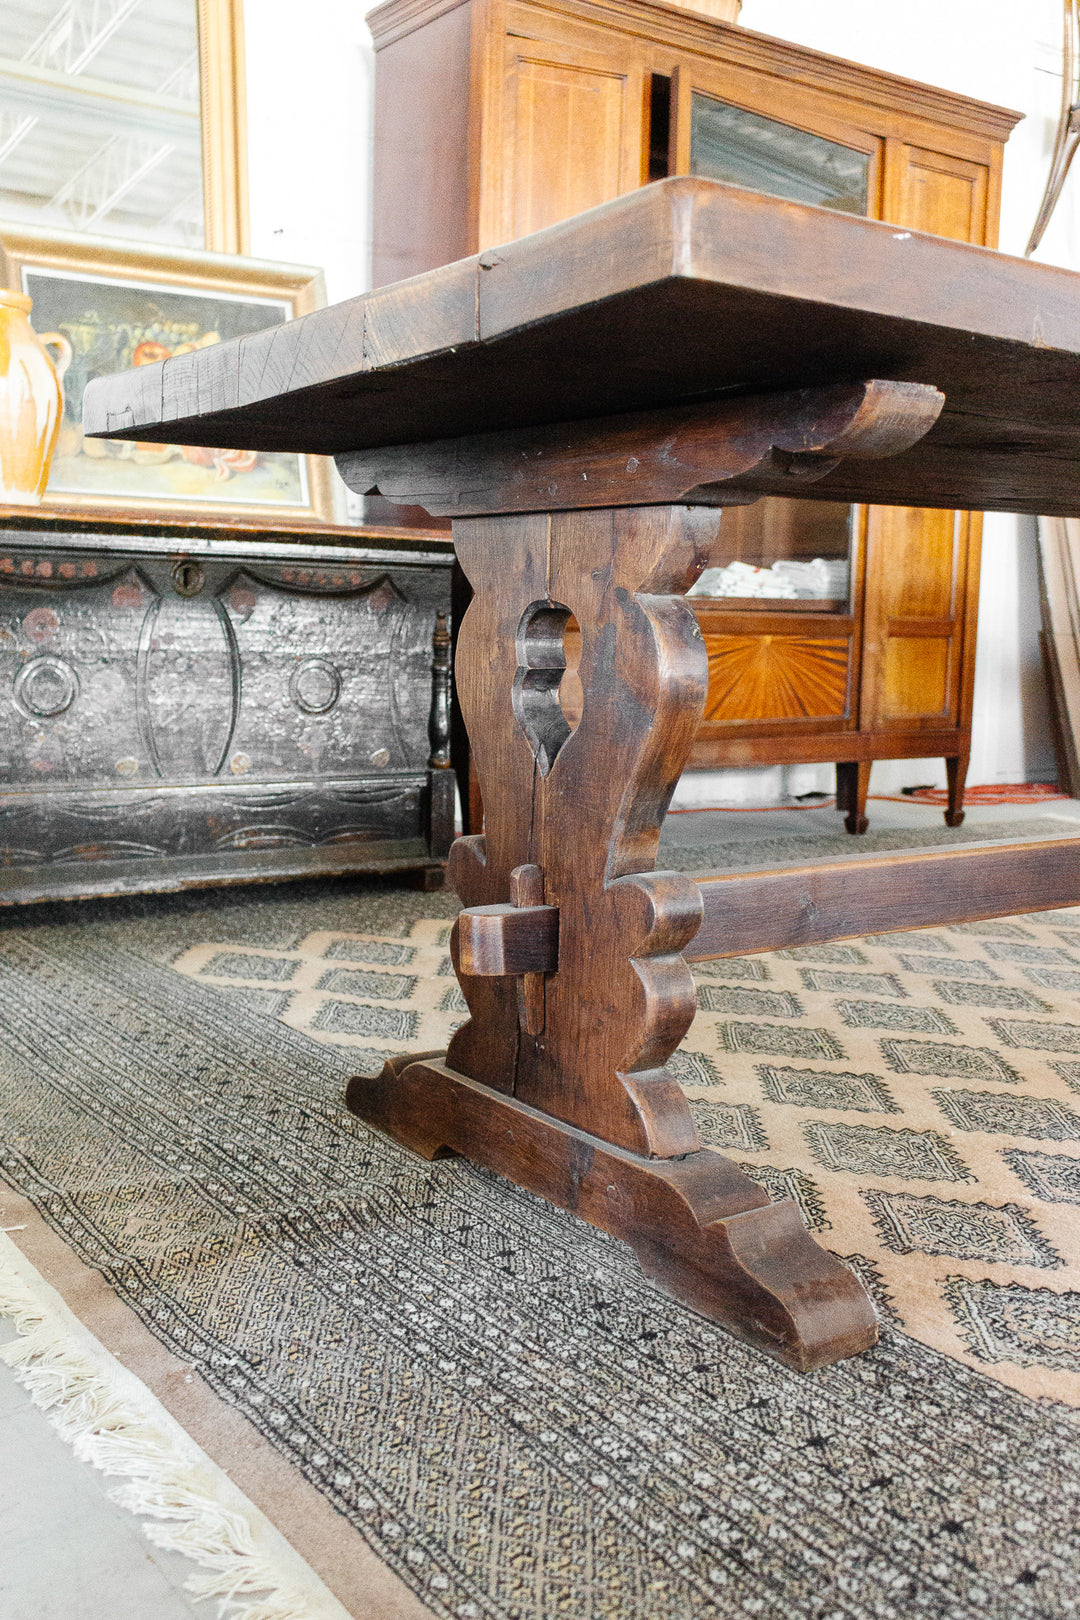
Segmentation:
<svg viewBox="0 0 1080 1620">
<path fill-rule="evenodd" d="M 996 245 L 1017 113 L 654 0 L 389 0 L 376 73 L 376 285 L 669 173 Z M 821 595 L 696 598 L 695 765 L 837 761 L 848 831 L 874 758 L 942 757 L 962 820 L 980 517 L 763 501 L 719 564 L 831 564 Z M 839 565 L 839 567 L 837 567 Z"/>
</svg>

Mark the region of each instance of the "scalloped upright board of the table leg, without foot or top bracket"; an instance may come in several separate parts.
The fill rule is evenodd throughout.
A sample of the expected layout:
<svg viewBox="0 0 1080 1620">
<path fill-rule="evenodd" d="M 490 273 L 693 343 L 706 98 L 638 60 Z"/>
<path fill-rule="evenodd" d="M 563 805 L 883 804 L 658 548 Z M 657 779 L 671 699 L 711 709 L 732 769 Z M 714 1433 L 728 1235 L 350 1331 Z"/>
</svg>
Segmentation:
<svg viewBox="0 0 1080 1620">
<path fill-rule="evenodd" d="M 706 682 L 698 624 L 675 593 L 703 567 L 716 525 L 685 507 L 455 523 L 474 588 L 458 695 L 486 825 L 450 854 L 466 907 L 452 951 L 471 1019 L 447 1063 L 646 1157 L 698 1147 L 665 1068 L 695 1014 L 677 953 L 699 925 L 698 888 L 651 868 Z M 559 701 L 572 614 L 585 692 L 575 727 Z M 525 867 L 531 881 L 515 885 Z M 491 938 L 515 925 L 486 907 L 515 899 L 559 912 L 559 972 L 533 985 L 528 1008 L 513 977 L 491 974 L 504 951 L 526 977 L 549 961 Z M 536 912 L 526 928 L 538 922 L 547 933 Z"/>
</svg>

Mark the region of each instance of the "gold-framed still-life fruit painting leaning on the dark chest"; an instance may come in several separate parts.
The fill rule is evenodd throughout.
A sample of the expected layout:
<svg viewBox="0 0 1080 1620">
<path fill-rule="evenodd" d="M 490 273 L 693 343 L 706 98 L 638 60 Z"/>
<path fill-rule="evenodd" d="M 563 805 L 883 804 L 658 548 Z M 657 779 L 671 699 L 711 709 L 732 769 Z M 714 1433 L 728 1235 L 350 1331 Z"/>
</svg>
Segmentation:
<svg viewBox="0 0 1080 1620">
<path fill-rule="evenodd" d="M 23 227 L 0 225 L 0 241 L 63 374 L 45 505 L 334 520 L 324 457 L 83 437 L 91 377 L 308 314 L 324 303 L 319 271 Z"/>
</svg>

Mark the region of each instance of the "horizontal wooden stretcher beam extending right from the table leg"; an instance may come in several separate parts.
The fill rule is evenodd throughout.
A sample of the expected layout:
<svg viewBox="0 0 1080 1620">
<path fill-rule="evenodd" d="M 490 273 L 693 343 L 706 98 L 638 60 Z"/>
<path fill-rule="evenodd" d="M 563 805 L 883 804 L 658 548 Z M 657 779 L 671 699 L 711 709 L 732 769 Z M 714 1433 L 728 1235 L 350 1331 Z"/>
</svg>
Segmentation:
<svg viewBox="0 0 1080 1620">
<path fill-rule="evenodd" d="M 1080 838 L 912 849 L 701 878 L 688 962 L 1080 906 Z"/>
</svg>

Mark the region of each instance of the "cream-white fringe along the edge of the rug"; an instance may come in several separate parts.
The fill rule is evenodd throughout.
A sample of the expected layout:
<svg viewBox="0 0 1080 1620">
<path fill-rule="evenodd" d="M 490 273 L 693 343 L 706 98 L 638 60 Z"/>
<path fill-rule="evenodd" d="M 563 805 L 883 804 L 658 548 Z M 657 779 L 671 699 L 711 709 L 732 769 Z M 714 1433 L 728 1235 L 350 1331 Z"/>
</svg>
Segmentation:
<svg viewBox="0 0 1080 1620">
<path fill-rule="evenodd" d="M 3 1251 L 0 1315 L 8 1317 L 18 1333 L 0 1346 L 0 1359 L 34 1405 L 47 1413 L 60 1439 L 81 1461 L 126 1479 L 108 1495 L 151 1520 L 142 1529 L 154 1545 L 180 1552 L 207 1571 L 185 1583 L 196 1601 L 219 1599 L 219 1617 L 230 1620 L 345 1615 L 329 1592 L 329 1604 L 313 1607 L 288 1580 L 274 1549 L 261 1545 L 251 1510 L 220 1500 L 219 1469 L 201 1458 L 194 1442 L 185 1447 L 170 1437 L 154 1413 L 139 1409 L 130 1390 L 118 1392 L 115 1380 L 110 1387 L 107 1361 L 112 1358 L 105 1351 L 94 1356 L 79 1343 Z"/>
</svg>

